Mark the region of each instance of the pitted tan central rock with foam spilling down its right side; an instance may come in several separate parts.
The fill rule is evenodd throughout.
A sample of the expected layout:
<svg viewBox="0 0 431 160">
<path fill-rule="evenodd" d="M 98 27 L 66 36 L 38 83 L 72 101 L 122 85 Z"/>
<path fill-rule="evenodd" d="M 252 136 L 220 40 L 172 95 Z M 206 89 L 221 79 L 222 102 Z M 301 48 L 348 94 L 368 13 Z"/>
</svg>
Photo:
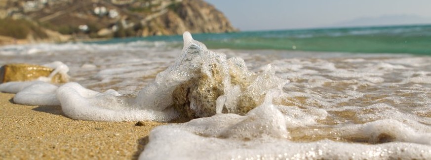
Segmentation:
<svg viewBox="0 0 431 160">
<path fill-rule="evenodd" d="M 223 68 L 228 67 L 229 73 L 223 74 Z M 245 62 L 240 58 L 231 58 L 228 65 L 210 64 L 211 78 L 204 73 L 178 85 L 172 93 L 173 107 L 187 120 L 210 117 L 216 114 L 216 103 L 220 96 L 226 96 L 222 113 L 245 114 L 263 103 L 267 92 L 273 88 L 281 89 L 286 80 L 275 76 L 271 65 L 256 75 L 247 70 Z M 230 78 L 228 93 L 223 80 Z M 237 91 L 235 91 L 235 87 Z"/>
</svg>

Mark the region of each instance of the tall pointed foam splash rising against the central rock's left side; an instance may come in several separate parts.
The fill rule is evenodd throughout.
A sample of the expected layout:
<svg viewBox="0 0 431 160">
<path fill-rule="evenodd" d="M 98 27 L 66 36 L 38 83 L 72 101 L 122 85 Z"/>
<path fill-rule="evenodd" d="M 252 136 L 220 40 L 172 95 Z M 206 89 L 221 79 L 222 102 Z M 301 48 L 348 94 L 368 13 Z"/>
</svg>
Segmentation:
<svg viewBox="0 0 431 160">
<path fill-rule="evenodd" d="M 155 82 L 139 92 L 136 104 L 141 108 L 163 110 L 172 105 L 176 86 L 192 79 L 202 65 L 202 58 L 210 56 L 205 45 L 194 41 L 189 32 L 183 34 L 184 48 L 175 63 L 157 74 Z"/>
</svg>

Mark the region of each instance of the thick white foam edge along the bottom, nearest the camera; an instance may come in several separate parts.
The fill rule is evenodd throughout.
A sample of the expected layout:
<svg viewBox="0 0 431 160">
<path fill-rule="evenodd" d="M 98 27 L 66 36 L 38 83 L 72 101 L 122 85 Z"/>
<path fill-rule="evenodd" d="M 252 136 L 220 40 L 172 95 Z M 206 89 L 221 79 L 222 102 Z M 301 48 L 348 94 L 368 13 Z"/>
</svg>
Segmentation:
<svg viewBox="0 0 431 160">
<path fill-rule="evenodd" d="M 380 133 L 398 133 L 396 140 L 384 144 L 367 145 L 359 143 L 321 140 L 316 142 L 292 142 L 278 133 L 287 135 L 283 125 L 276 126 L 282 117 L 261 110 L 252 110 L 256 117 L 234 114 L 219 114 L 213 117 L 192 120 L 185 124 L 160 126 L 150 133 L 150 142 L 141 153 L 140 160 L 188 159 L 429 159 L 431 146 L 429 134 L 416 134 L 409 129 L 391 130 L 402 125 L 390 121 L 373 122 L 361 126 L 360 131 L 374 137 Z M 267 108 L 272 110 L 270 108 Z M 260 110 L 260 111 L 258 111 Z M 250 112 L 252 112 L 250 111 Z M 266 114 L 270 113 L 270 114 Z M 267 117 L 269 116 L 269 117 Z M 262 119 L 263 118 L 263 119 Z M 264 120 L 269 118 L 270 123 Z M 263 126 L 256 126 L 262 124 Z M 269 125 L 269 126 L 266 126 Z M 385 127 L 385 125 L 390 125 Z M 235 130 L 231 126 L 238 126 Z M 271 132 L 270 132 L 271 131 Z M 251 134 L 255 133 L 255 134 Z M 413 138 L 410 134 L 413 134 Z M 221 136 L 222 135 L 222 136 Z M 252 136 L 249 136 L 252 135 Z M 239 137 L 239 138 L 238 138 Z M 409 138 L 405 138 L 409 137 Z M 422 140 L 422 142 L 421 142 Z M 423 141 L 425 140 L 425 141 Z M 402 142 L 407 141 L 407 142 Z M 420 142 L 410 143 L 410 142 Z M 169 153 L 169 154 L 165 154 Z"/>
</svg>

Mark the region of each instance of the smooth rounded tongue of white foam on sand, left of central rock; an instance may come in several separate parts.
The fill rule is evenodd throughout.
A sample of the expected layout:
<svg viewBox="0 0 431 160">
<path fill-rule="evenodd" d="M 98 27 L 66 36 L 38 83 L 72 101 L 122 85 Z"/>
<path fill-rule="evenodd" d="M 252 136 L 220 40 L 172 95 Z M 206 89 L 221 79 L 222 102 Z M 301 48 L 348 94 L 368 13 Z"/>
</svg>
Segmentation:
<svg viewBox="0 0 431 160">
<path fill-rule="evenodd" d="M 114 90 L 99 93 L 75 82 L 66 83 L 57 90 L 57 98 L 61 103 L 63 113 L 73 119 L 167 122 L 177 116 L 173 109 L 162 112 L 133 108 L 127 99 L 121 99 L 119 96 L 118 92 Z"/>
</svg>

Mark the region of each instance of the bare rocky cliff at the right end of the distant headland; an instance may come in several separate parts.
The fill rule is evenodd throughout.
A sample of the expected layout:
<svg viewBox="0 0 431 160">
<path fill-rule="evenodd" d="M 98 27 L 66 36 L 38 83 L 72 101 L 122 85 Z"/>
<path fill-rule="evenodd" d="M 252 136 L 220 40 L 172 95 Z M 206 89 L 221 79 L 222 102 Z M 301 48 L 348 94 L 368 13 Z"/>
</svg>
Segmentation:
<svg viewBox="0 0 431 160">
<path fill-rule="evenodd" d="M 176 8 L 155 17 L 144 26 L 143 36 L 192 33 L 222 33 L 238 31 L 225 15 L 203 0 L 182 0 Z"/>
</svg>

